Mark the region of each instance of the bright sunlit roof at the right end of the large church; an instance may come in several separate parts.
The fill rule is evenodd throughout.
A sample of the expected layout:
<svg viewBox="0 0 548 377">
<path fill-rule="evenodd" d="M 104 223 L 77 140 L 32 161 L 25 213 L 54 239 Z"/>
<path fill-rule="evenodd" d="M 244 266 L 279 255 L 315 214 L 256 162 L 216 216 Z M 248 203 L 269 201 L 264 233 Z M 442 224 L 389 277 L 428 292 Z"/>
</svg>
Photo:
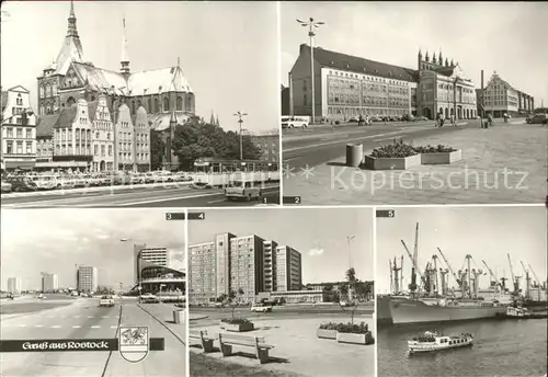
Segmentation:
<svg viewBox="0 0 548 377">
<path fill-rule="evenodd" d="M 127 80 L 127 87 L 132 91 L 132 95 L 158 94 L 160 92 L 192 93 L 192 89 L 181 67 L 151 69 L 132 73 Z"/>
</svg>

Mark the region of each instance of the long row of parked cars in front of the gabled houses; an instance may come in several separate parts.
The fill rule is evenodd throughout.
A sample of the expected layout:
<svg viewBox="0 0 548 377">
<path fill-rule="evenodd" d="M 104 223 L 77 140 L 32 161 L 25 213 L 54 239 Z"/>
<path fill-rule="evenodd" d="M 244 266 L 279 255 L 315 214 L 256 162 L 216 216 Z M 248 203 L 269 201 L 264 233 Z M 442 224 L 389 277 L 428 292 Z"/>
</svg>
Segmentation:
<svg viewBox="0 0 548 377">
<path fill-rule="evenodd" d="M 186 181 L 192 181 L 189 173 L 172 173 L 169 171 L 148 173 L 7 174 L 2 176 L 2 193 Z"/>
</svg>

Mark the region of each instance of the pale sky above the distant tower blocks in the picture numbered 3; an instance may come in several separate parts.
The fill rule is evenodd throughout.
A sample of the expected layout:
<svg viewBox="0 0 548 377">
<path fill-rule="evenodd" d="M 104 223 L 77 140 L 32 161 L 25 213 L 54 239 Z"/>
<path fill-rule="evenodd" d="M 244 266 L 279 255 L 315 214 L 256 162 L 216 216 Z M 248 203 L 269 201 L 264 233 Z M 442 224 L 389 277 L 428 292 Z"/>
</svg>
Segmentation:
<svg viewBox="0 0 548 377">
<path fill-rule="evenodd" d="M 99 284 L 134 281 L 134 243 L 164 247 L 186 270 L 184 221 L 167 221 L 169 209 L 2 209 L 1 283 L 20 277 L 23 289 L 41 287 L 41 272 L 75 286 L 75 264 L 99 270 Z M 179 210 L 181 212 L 181 210 Z M 126 241 L 122 241 L 126 239 Z"/>
</svg>

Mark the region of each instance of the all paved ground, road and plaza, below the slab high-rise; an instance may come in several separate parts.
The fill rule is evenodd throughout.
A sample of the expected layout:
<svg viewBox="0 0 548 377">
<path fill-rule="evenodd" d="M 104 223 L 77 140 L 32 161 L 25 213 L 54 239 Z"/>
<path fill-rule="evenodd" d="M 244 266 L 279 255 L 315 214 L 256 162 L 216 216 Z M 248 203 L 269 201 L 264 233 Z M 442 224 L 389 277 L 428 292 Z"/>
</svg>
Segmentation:
<svg viewBox="0 0 548 377">
<path fill-rule="evenodd" d="M 191 308 L 190 310 L 191 329 L 205 329 L 214 336 L 222 331 L 219 329 L 219 319 L 231 316 L 230 309 Z M 222 357 L 220 352 L 208 353 L 207 357 L 249 368 L 261 368 L 265 373 L 276 372 L 276 376 L 375 376 L 374 345 L 342 344 L 335 340 L 317 338 L 316 330 L 321 323 L 350 322 L 350 311 L 342 311 L 340 307 L 299 306 L 274 307 L 270 313 L 250 313 L 249 308 L 242 308 L 235 313 L 235 317 L 241 316 L 251 320 L 255 327 L 255 330 L 246 334 L 264 336 L 265 342 L 274 346 L 270 352 L 271 361 L 260 365 L 251 356 L 239 354 Z M 193 317 L 199 319 L 192 320 Z M 373 330 L 373 305 L 356 311 L 354 322 L 365 322 Z M 215 345 L 218 346 L 218 342 Z M 199 347 L 192 345 L 190 350 L 193 354 L 202 353 Z M 235 352 L 240 351 L 250 353 L 249 350 L 235 350 Z M 202 359 L 201 363 L 206 364 L 206 361 Z M 218 375 L 222 376 L 221 373 Z M 261 374 L 256 374 L 259 375 Z M 191 363 L 191 376 L 205 375 L 193 374 Z"/>
</svg>

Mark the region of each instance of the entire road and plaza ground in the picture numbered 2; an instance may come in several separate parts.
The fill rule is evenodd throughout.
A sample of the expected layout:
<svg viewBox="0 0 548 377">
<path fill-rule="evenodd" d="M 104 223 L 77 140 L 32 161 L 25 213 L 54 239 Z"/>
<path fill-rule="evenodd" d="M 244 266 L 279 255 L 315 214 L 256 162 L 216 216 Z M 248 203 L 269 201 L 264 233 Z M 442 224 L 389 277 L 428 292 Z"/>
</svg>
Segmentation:
<svg viewBox="0 0 548 377">
<path fill-rule="evenodd" d="M 375 125 L 344 128 L 335 132 L 330 127 L 295 133 L 288 141 L 284 138 L 284 159 L 294 168 L 284 174 L 284 196 L 300 196 L 305 205 L 544 203 L 548 128 L 496 119 L 494 127 L 481 129 L 478 122 L 455 128 Z M 364 144 L 364 153 L 369 153 L 399 137 L 415 146 L 460 149 L 463 160 L 403 171 L 345 165 L 346 144 Z"/>
</svg>

